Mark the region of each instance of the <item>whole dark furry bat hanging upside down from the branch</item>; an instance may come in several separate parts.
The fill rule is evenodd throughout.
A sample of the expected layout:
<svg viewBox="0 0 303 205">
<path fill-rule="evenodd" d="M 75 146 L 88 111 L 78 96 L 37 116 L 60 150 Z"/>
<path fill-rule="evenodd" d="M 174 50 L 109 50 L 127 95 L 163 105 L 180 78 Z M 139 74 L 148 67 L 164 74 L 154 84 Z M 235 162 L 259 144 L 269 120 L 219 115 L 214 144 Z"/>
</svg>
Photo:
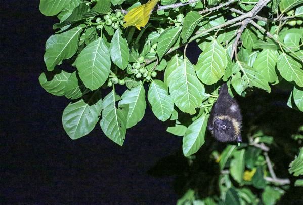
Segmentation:
<svg viewBox="0 0 303 205">
<path fill-rule="evenodd" d="M 220 142 L 242 142 L 242 115 L 238 103 L 228 93 L 223 84 L 217 102 L 212 106 L 207 129 Z"/>
</svg>

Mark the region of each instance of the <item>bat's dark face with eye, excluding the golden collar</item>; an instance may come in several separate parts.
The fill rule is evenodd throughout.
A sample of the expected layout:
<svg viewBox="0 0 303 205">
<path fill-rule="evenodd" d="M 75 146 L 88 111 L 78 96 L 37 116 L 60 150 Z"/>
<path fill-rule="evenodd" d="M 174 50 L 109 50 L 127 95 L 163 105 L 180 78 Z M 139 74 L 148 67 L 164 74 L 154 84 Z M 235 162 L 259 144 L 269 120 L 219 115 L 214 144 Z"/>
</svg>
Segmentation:
<svg viewBox="0 0 303 205">
<path fill-rule="evenodd" d="M 220 142 L 232 142 L 237 139 L 233 123 L 218 118 L 214 120 L 213 135 Z"/>
</svg>

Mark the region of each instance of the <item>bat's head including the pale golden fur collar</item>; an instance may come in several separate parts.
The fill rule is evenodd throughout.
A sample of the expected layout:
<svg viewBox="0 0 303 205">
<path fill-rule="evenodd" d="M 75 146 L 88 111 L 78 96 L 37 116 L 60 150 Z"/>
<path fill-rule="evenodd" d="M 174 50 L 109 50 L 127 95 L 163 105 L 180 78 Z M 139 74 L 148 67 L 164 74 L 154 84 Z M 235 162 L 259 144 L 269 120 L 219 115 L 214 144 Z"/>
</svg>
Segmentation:
<svg viewBox="0 0 303 205">
<path fill-rule="evenodd" d="M 239 124 L 229 117 L 214 120 L 213 135 L 220 142 L 242 142 Z"/>
</svg>

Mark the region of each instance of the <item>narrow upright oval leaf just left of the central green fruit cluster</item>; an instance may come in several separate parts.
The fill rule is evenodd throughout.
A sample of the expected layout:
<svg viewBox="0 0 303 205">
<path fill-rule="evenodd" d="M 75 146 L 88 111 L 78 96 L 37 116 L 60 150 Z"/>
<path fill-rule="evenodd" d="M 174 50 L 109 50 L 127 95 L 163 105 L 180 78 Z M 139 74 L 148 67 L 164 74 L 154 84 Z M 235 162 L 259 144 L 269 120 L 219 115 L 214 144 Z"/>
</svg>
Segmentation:
<svg viewBox="0 0 303 205">
<path fill-rule="evenodd" d="M 120 69 L 124 70 L 128 65 L 129 49 L 125 38 L 121 35 L 121 30 L 117 29 L 109 47 L 111 60 Z"/>
</svg>

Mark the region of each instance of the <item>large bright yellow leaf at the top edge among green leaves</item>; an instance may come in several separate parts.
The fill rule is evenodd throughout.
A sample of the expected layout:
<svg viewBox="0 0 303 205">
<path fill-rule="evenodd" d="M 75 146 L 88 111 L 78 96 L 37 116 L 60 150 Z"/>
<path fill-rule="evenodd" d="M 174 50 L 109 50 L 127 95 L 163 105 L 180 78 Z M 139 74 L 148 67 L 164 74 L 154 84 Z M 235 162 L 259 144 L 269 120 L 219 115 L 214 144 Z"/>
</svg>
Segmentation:
<svg viewBox="0 0 303 205">
<path fill-rule="evenodd" d="M 124 17 L 124 21 L 126 22 L 123 24 L 124 28 L 136 26 L 136 28 L 141 30 L 141 27 L 144 27 L 147 24 L 157 2 L 158 0 L 150 0 L 146 4 L 131 9 Z"/>
</svg>

